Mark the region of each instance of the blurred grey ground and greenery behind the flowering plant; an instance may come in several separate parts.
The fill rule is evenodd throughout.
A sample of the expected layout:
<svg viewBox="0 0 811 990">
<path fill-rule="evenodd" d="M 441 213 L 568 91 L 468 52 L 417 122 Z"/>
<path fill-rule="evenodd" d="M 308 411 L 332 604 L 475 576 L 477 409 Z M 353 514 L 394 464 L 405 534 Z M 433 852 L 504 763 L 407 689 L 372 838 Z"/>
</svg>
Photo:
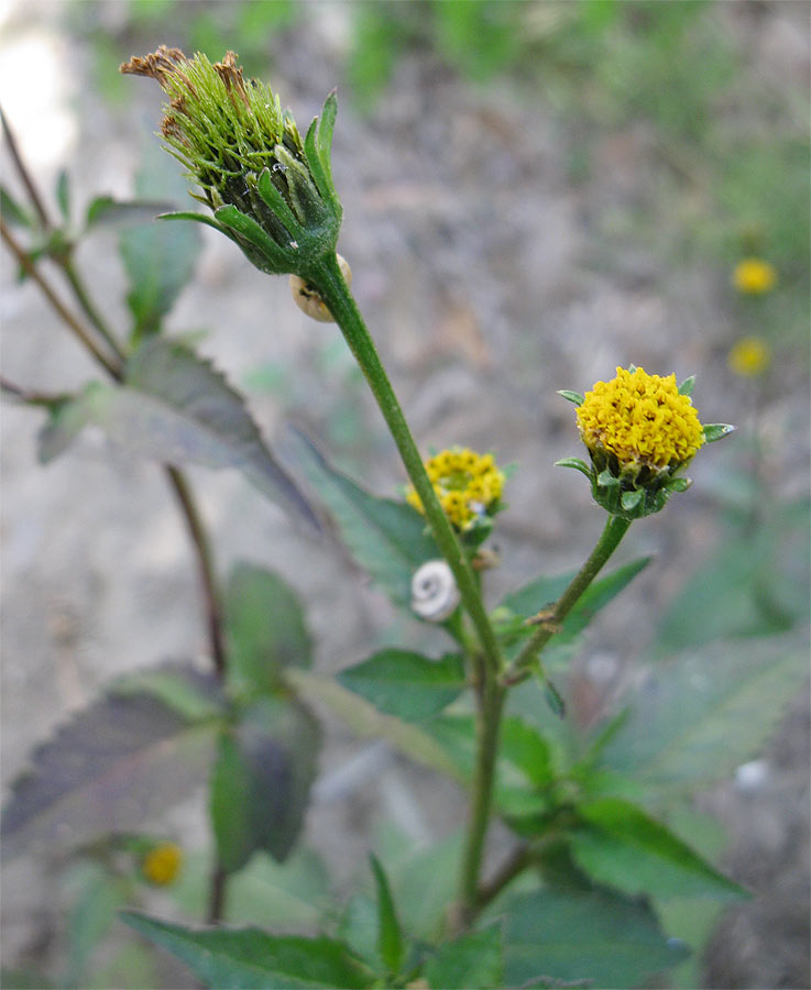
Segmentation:
<svg viewBox="0 0 811 990">
<path fill-rule="evenodd" d="M 299 125 L 338 87 L 339 246 L 417 441 L 518 465 L 498 517 L 494 601 L 541 570 L 577 566 L 602 526 L 583 480 L 552 466 L 580 453 L 556 389 L 585 391 L 632 362 L 698 374 L 702 421 L 737 432 L 698 458 L 688 495 L 632 529 L 621 559 L 655 561 L 567 678 L 579 724 L 599 719 L 649 661 L 753 642 L 767 657 L 777 637 L 802 641 L 808 4 L 6 0 L 0 15 L 3 111 L 52 205 L 67 170 L 77 227 L 99 194 L 188 208 L 154 138 L 157 87 L 118 74 L 131 55 L 158 44 L 212 59 L 233 50 Z M 3 155 L 3 183 L 21 196 Z M 117 238 L 88 237 L 77 263 L 123 333 Z M 205 230 L 195 250 L 173 332 L 199 341 L 281 450 L 295 419 L 368 487 L 396 495 L 405 476 L 337 330 L 309 322 L 286 280 L 250 268 L 224 238 Z M 89 361 L 36 287 L 18 284 L 8 253 L 1 263 L 3 375 L 45 392 L 78 387 L 94 375 Z M 89 431 L 43 468 L 41 425 L 4 404 L 4 787 L 111 678 L 205 650 L 186 536 L 158 470 Z M 336 546 L 291 529 L 240 479 L 193 479 L 222 572 L 241 558 L 283 572 L 306 604 L 322 670 L 372 646 L 425 640 Z M 695 799 L 726 831 L 719 861 L 757 895 L 702 920 L 697 944 L 709 948 L 680 986 L 809 986 L 807 682 L 786 698 L 753 759 Z M 340 888 L 383 821 L 417 845 L 458 826 L 461 798 L 446 795 L 427 771 L 329 723 L 307 843 Z M 199 802 L 164 825 L 205 847 Z M 66 953 L 85 952 L 74 974 L 87 982 L 74 986 L 168 986 L 154 961 L 136 965 L 131 948 L 117 956 L 87 935 L 83 882 L 47 858 L 4 869 L 4 964 L 53 974 Z"/>
</svg>

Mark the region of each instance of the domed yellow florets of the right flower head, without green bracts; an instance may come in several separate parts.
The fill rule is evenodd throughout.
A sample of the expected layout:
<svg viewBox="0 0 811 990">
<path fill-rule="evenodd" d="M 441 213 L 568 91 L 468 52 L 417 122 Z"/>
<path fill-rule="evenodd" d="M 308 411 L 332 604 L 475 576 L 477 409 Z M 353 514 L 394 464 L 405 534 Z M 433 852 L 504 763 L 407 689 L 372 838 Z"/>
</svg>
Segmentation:
<svg viewBox="0 0 811 990">
<path fill-rule="evenodd" d="M 690 402 L 676 375 L 662 378 L 644 369 L 618 367 L 611 382 L 598 382 L 578 407 L 578 426 L 589 451 L 604 451 L 621 471 L 686 464 L 704 442 Z"/>
</svg>

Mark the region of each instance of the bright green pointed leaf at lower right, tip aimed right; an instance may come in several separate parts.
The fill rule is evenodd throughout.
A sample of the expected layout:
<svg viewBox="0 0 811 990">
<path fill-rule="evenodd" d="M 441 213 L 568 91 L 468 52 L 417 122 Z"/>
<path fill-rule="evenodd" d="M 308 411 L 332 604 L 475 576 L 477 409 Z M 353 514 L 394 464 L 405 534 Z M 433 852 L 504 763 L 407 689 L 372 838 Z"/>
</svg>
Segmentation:
<svg viewBox="0 0 811 990">
<path fill-rule="evenodd" d="M 576 862 L 598 883 L 631 895 L 735 900 L 745 891 L 681 842 L 660 822 L 621 798 L 578 806 Z"/>
</svg>

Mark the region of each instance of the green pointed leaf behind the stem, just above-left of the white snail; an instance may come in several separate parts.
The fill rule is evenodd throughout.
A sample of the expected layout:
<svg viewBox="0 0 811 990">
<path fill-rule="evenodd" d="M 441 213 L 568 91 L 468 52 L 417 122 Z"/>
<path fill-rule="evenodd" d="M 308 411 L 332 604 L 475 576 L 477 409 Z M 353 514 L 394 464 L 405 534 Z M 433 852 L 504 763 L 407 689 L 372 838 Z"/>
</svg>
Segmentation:
<svg viewBox="0 0 811 990">
<path fill-rule="evenodd" d="M 405 503 L 364 492 L 331 468 L 303 433 L 296 436 L 303 468 L 343 542 L 391 600 L 410 610 L 414 572 L 440 556 L 425 532 L 425 519 Z"/>
</svg>

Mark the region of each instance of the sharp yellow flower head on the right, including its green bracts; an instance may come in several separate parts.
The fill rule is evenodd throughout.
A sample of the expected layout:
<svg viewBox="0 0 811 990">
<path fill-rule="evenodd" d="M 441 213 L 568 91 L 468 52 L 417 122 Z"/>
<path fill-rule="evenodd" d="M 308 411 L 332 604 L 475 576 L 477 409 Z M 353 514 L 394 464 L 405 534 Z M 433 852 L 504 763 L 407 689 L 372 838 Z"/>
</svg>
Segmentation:
<svg viewBox="0 0 811 990">
<path fill-rule="evenodd" d="M 584 396 L 561 393 L 578 407 L 591 465 L 576 458 L 558 463 L 582 471 L 595 502 L 612 515 L 637 519 L 659 512 L 673 492 L 689 487 L 682 472 L 699 449 L 733 429 L 701 425 L 690 399 L 693 381 L 677 386 L 676 375 L 664 378 L 631 365 Z"/>
</svg>

